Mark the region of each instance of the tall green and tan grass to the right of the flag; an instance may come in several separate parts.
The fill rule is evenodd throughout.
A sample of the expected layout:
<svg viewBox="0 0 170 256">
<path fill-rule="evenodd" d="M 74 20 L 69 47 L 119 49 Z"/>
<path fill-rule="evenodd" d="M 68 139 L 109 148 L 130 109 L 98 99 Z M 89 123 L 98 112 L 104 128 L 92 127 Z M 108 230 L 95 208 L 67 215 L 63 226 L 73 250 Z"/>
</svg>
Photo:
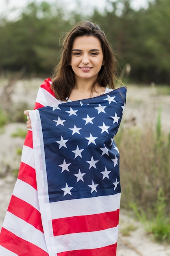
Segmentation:
<svg viewBox="0 0 170 256">
<path fill-rule="evenodd" d="M 170 243 L 170 132 L 161 127 L 161 109 L 155 128 L 120 128 L 121 207 L 133 209 L 146 231 L 159 242 Z"/>
</svg>

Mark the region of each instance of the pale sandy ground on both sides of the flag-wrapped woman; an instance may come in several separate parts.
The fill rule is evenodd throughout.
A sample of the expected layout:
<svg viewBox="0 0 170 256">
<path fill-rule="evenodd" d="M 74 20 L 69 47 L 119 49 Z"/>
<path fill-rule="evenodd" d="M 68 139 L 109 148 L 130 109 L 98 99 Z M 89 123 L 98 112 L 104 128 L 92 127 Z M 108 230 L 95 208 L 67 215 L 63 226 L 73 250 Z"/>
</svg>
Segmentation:
<svg viewBox="0 0 170 256">
<path fill-rule="evenodd" d="M 23 99 L 29 103 L 30 108 L 31 106 L 33 108 L 38 89 L 38 85 L 35 87 L 33 84 L 31 83 L 28 89 L 27 84 L 17 83 L 13 102 Z M 170 96 L 157 96 L 155 88 L 151 87 L 128 86 L 122 123 L 126 126 L 136 125 L 142 129 L 146 125 L 155 127 L 160 107 L 162 129 L 168 132 L 170 129 Z M 16 177 L 10 173 L 10 168 L 19 168 L 21 156 L 17 155 L 16 149 L 22 148 L 24 142 L 24 139 L 20 137 L 11 137 L 17 128 L 26 129 L 26 126 L 18 123 L 8 124 L 0 133 L 0 227 L 16 181 Z M 130 231 L 128 236 L 124 236 L 123 229 L 129 223 L 135 227 L 135 230 Z M 142 224 L 134 220 L 130 213 L 121 209 L 117 256 L 170 256 L 170 245 L 154 243 L 152 237 L 144 231 Z"/>
</svg>

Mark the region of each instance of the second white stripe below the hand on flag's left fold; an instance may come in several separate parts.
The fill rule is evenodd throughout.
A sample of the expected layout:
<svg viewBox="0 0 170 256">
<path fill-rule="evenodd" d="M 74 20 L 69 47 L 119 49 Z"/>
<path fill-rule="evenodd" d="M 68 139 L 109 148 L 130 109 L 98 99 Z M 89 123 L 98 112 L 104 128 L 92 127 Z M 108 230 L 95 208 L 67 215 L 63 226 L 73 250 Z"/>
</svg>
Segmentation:
<svg viewBox="0 0 170 256">
<path fill-rule="evenodd" d="M 27 202 L 28 204 L 31 204 L 35 209 L 40 211 L 37 190 L 28 183 L 17 179 L 15 188 L 13 190 L 13 195 Z"/>
</svg>

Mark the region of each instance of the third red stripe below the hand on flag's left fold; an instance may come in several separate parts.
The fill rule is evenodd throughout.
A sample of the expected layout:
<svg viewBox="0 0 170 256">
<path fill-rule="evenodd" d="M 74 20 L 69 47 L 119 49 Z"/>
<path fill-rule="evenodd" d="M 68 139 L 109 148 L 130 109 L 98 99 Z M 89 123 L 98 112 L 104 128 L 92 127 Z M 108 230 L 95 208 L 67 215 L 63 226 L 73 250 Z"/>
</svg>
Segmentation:
<svg viewBox="0 0 170 256">
<path fill-rule="evenodd" d="M 41 213 L 31 204 L 28 204 L 20 198 L 12 195 L 8 211 L 44 233 L 41 221 Z"/>
</svg>

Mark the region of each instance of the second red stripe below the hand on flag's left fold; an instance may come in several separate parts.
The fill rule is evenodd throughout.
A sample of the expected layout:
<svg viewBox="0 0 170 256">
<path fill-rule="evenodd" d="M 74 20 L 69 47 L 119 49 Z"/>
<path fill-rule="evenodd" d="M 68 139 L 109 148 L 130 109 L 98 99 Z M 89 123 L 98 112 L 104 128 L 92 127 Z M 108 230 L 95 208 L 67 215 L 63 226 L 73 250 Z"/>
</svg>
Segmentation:
<svg viewBox="0 0 170 256">
<path fill-rule="evenodd" d="M 28 164 L 21 162 L 19 173 L 18 173 L 18 179 L 28 183 L 34 189 L 37 190 L 35 169 L 33 167 L 29 166 Z"/>
</svg>

